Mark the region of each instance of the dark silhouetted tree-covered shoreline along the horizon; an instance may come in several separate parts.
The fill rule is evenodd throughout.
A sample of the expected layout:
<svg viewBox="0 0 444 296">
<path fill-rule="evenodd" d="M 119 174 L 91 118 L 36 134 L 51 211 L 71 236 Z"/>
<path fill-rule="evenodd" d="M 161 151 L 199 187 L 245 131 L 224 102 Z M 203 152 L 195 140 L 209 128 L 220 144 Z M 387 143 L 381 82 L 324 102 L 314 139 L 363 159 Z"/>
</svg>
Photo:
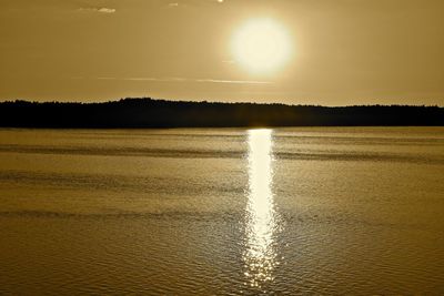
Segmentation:
<svg viewBox="0 0 444 296">
<path fill-rule="evenodd" d="M 7 101 L 1 127 L 147 129 L 444 125 L 444 108 L 317 106 L 121 99 L 103 103 Z"/>
</svg>

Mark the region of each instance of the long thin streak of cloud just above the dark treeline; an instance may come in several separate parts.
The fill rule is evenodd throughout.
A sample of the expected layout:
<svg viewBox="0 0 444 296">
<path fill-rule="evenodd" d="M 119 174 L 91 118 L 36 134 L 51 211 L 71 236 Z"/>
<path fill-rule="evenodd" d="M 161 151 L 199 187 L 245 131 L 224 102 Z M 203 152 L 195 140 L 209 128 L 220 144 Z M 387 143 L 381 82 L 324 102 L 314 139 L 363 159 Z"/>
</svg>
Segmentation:
<svg viewBox="0 0 444 296">
<path fill-rule="evenodd" d="M 88 78 L 73 78 L 88 79 Z M 115 80 L 115 81 L 152 81 L 152 82 L 196 82 L 196 83 L 229 83 L 229 84 L 273 84 L 271 81 L 255 80 L 222 80 L 222 79 L 185 79 L 185 78 L 113 78 L 100 76 L 97 80 Z"/>
</svg>

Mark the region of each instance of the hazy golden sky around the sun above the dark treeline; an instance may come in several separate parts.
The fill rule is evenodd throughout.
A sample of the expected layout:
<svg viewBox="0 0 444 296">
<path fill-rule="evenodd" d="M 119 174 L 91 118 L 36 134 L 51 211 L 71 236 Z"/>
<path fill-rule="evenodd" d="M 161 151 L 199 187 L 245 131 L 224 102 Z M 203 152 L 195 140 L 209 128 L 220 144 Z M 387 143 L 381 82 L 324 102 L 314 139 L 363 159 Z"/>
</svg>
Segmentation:
<svg viewBox="0 0 444 296">
<path fill-rule="evenodd" d="M 233 53 L 256 19 L 291 44 L 275 71 Z M 444 1 L 0 0 L 0 100 L 125 96 L 444 105 Z"/>
</svg>

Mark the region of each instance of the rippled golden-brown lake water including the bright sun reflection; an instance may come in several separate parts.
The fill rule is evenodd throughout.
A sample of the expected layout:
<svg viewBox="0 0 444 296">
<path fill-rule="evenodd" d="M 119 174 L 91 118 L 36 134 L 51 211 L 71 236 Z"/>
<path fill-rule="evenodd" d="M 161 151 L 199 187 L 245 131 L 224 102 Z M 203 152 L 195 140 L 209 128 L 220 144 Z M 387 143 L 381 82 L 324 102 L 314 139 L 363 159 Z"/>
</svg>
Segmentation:
<svg viewBox="0 0 444 296">
<path fill-rule="evenodd" d="M 0 130 L 0 294 L 444 294 L 444 129 Z"/>
</svg>

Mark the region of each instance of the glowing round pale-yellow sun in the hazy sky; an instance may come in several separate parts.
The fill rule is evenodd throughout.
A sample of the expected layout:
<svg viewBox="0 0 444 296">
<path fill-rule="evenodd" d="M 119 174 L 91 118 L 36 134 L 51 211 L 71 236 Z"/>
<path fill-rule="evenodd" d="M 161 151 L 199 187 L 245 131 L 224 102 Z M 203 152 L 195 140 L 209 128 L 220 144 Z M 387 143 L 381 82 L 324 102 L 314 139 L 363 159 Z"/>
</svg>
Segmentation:
<svg viewBox="0 0 444 296">
<path fill-rule="evenodd" d="M 271 73 L 284 67 L 292 53 L 285 28 L 272 19 L 242 24 L 232 39 L 234 60 L 251 73 Z"/>
</svg>

